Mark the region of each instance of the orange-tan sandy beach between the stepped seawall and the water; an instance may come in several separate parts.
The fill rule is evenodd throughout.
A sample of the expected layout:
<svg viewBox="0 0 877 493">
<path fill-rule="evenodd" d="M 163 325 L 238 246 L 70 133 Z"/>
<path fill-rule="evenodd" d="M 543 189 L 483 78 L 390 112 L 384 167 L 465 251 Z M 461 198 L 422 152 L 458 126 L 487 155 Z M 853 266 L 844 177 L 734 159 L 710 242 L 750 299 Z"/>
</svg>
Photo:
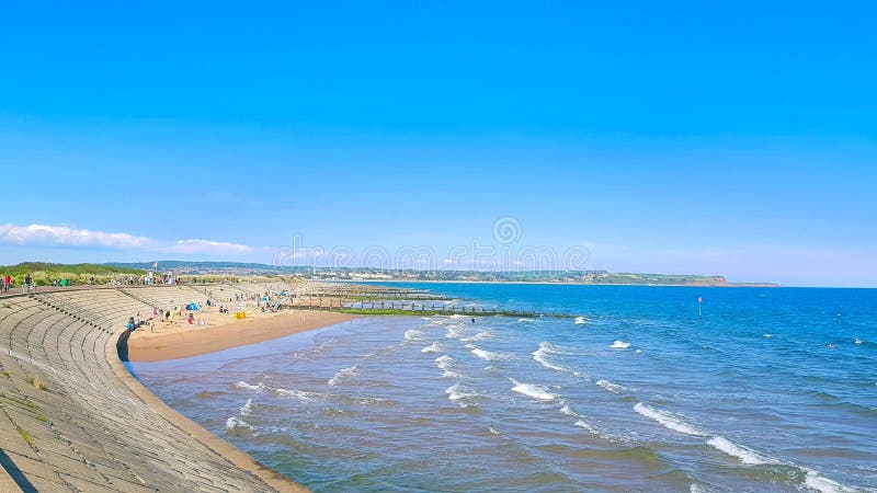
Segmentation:
<svg viewBox="0 0 877 493">
<path fill-rule="evenodd" d="M 247 312 L 247 319 L 236 320 L 232 314 L 219 313 L 214 307 L 195 312 L 195 320 L 204 321 L 203 326 L 190 325 L 185 321 L 157 322 L 153 332 L 149 326 L 134 331 L 128 339 L 128 360 L 150 363 L 200 356 L 346 322 L 354 318 L 352 314 L 326 311 L 284 310 L 278 313 L 262 313 L 254 310 Z"/>
</svg>

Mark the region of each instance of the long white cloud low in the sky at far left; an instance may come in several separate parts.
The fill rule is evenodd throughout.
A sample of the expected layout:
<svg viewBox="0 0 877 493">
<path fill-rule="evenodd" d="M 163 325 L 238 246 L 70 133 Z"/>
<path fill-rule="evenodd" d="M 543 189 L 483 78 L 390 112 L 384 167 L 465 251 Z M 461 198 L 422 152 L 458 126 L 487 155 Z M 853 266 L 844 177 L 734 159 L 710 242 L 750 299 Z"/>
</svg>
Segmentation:
<svg viewBox="0 0 877 493">
<path fill-rule="evenodd" d="M 67 226 L 0 225 L 0 243 L 18 245 L 103 246 L 113 249 L 145 248 L 146 237 L 124 232 L 91 231 Z"/>
</svg>

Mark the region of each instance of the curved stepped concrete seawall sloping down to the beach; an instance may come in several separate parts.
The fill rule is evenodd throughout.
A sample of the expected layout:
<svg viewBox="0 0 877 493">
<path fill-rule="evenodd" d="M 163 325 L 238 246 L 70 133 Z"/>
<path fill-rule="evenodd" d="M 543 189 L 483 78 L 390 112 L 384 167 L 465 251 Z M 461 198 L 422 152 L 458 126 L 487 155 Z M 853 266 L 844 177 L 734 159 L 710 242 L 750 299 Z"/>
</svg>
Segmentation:
<svg viewBox="0 0 877 493">
<path fill-rule="evenodd" d="M 119 360 L 128 317 L 203 296 L 126 287 L 0 297 L 0 491 L 303 491 L 164 405 Z"/>
</svg>

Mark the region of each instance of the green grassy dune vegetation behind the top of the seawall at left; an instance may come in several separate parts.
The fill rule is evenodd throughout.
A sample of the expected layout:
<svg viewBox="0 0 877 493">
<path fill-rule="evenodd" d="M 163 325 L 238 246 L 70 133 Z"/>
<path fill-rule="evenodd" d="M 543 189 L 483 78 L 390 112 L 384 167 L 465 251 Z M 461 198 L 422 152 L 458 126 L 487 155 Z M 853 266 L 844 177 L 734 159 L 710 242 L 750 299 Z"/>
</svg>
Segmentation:
<svg viewBox="0 0 877 493">
<path fill-rule="evenodd" d="M 106 284 L 112 279 L 141 276 L 146 271 L 129 267 L 114 267 L 101 264 L 49 264 L 44 262 L 22 262 L 18 265 L 0 266 L 0 277 L 9 274 L 15 286 L 24 283 L 31 275 L 37 286 L 50 285 L 55 279 L 69 279 L 71 284 Z"/>
</svg>

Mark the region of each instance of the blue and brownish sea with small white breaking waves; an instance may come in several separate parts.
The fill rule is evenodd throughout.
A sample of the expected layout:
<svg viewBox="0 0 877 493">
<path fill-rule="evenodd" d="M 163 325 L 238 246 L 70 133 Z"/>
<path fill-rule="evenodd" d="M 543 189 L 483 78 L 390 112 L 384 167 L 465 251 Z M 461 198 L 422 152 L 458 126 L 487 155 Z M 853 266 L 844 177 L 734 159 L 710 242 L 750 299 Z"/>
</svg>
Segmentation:
<svg viewBox="0 0 877 493">
<path fill-rule="evenodd" d="M 133 370 L 315 491 L 877 488 L 877 290 L 410 286 L 581 318 L 362 318 Z"/>
</svg>

